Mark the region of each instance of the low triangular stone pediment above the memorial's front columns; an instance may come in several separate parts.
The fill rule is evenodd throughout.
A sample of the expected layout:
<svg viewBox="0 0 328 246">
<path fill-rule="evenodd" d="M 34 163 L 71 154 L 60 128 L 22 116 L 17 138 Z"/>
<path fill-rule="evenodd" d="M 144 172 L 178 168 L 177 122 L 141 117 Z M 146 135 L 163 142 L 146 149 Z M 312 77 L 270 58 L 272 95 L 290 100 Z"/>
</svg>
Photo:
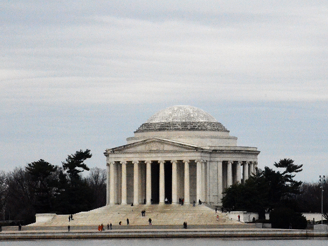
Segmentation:
<svg viewBox="0 0 328 246">
<path fill-rule="evenodd" d="M 172 141 L 161 138 L 150 138 L 134 142 L 132 144 L 116 147 L 107 150 L 108 152 L 139 152 L 139 151 L 186 151 L 186 150 L 201 150 L 202 148 L 183 144 L 181 142 Z"/>
</svg>

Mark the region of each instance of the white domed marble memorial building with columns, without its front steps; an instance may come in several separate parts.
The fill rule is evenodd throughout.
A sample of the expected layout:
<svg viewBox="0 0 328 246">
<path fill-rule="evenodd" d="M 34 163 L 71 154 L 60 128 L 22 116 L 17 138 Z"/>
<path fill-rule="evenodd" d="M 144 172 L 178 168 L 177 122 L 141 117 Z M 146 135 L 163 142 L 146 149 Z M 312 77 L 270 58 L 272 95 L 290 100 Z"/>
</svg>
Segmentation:
<svg viewBox="0 0 328 246">
<path fill-rule="evenodd" d="M 107 149 L 107 205 L 185 203 L 220 205 L 222 192 L 255 172 L 255 147 L 237 146 L 237 137 L 209 113 L 173 106 L 151 116 L 127 138 Z"/>
</svg>

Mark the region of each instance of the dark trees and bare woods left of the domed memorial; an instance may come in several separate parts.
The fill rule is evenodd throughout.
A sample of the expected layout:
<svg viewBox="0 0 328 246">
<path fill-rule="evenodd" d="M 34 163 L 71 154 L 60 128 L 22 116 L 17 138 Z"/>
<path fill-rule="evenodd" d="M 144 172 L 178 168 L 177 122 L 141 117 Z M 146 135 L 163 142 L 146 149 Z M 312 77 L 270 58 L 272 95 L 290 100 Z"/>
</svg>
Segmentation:
<svg viewBox="0 0 328 246">
<path fill-rule="evenodd" d="M 0 171 L 0 220 L 35 222 L 35 214 L 74 214 L 106 205 L 106 170 L 89 169 L 90 150 L 68 155 L 61 166 L 40 159 Z M 85 177 L 83 171 L 90 171 Z"/>
</svg>

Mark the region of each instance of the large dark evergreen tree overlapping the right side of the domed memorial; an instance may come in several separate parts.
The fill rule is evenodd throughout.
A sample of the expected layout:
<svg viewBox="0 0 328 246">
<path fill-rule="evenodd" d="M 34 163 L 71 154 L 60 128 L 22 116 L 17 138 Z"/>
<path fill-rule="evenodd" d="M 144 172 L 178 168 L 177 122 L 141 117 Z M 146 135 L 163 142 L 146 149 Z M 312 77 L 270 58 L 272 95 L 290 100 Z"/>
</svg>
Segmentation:
<svg viewBox="0 0 328 246">
<path fill-rule="evenodd" d="M 282 159 L 275 167 L 284 168 L 283 172 L 274 171 L 269 167 L 256 169 L 244 184 L 228 187 L 222 198 L 222 206 L 228 210 L 246 210 L 257 212 L 259 219 L 265 219 L 265 212 L 272 209 L 294 204 L 290 202 L 300 193 L 300 181 L 293 178 L 295 173 L 302 171 L 302 165 L 295 165 L 291 159 Z"/>
</svg>

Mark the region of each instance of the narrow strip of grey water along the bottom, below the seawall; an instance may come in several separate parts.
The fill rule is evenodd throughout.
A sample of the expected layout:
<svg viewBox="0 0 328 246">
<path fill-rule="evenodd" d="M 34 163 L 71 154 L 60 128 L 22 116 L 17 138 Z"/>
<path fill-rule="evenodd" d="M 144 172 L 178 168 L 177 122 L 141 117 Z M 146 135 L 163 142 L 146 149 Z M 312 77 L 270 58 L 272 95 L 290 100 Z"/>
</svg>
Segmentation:
<svg viewBox="0 0 328 246">
<path fill-rule="evenodd" d="M 326 246 L 321 240 L 225 240 L 218 238 L 168 238 L 168 239 L 72 239 L 2 241 L 1 246 Z"/>
</svg>

